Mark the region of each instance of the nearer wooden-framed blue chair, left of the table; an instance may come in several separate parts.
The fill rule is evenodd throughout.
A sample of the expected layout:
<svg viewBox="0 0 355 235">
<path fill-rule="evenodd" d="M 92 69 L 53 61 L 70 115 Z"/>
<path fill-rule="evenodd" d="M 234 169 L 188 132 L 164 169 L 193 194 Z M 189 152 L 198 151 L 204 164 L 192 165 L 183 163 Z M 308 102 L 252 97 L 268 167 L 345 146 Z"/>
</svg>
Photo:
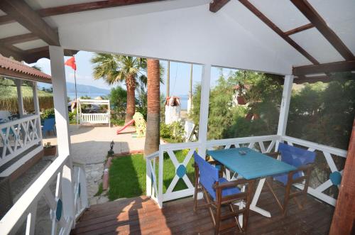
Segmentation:
<svg viewBox="0 0 355 235">
<path fill-rule="evenodd" d="M 231 227 L 238 226 L 241 231 L 246 231 L 246 225 L 249 217 L 249 206 L 251 203 L 251 195 L 253 190 L 253 180 L 234 180 L 228 181 L 224 177 L 219 177 L 219 170 L 213 165 L 209 164 L 206 160 L 200 157 L 196 152 L 195 158 L 195 198 L 194 198 L 194 211 L 197 207 L 207 206 L 209 214 L 214 223 L 214 234 L 219 234 L 221 230 L 222 218 L 234 218 L 233 222 L 224 224 L 223 229 L 230 229 Z M 246 192 L 241 192 L 239 185 L 248 185 Z M 203 192 L 205 204 L 197 205 L 197 192 Z M 244 200 L 246 208 L 240 210 L 235 208 L 234 202 L 237 200 Z M 221 214 L 222 204 L 229 207 L 228 214 Z M 212 209 L 216 209 L 214 213 Z M 243 226 L 238 222 L 239 214 L 243 214 Z"/>
</svg>

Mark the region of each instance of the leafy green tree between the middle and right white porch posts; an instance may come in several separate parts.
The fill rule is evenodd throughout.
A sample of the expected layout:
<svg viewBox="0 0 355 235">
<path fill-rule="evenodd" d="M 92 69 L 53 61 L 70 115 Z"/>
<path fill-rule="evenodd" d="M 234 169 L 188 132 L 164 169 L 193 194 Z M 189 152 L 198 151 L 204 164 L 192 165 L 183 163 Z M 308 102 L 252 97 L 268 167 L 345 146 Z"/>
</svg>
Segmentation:
<svg viewBox="0 0 355 235">
<path fill-rule="evenodd" d="M 209 95 L 209 139 L 235 138 L 274 134 L 278 126 L 282 86 L 280 77 L 251 71 L 237 71 L 225 78 L 221 73 L 216 87 Z M 234 102 L 234 94 L 241 92 L 248 106 Z M 190 117 L 198 124 L 200 116 L 200 85 L 195 87 Z M 254 119 L 246 119 L 251 114 Z M 256 118 L 257 117 L 257 118 Z"/>
</svg>

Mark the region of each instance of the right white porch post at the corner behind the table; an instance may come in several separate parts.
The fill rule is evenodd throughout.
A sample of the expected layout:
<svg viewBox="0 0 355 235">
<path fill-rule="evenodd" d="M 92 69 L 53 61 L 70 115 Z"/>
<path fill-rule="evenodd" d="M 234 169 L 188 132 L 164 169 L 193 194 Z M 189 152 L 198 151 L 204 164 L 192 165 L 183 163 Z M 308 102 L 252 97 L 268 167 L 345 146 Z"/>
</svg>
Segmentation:
<svg viewBox="0 0 355 235">
<path fill-rule="evenodd" d="M 283 83 L 283 99 L 280 106 L 280 116 L 278 119 L 278 136 L 285 136 L 286 126 L 288 123 L 288 110 L 290 109 L 290 99 L 292 93 L 293 75 L 285 75 L 285 82 Z M 276 141 L 275 151 L 278 150 L 278 143 Z"/>
</svg>

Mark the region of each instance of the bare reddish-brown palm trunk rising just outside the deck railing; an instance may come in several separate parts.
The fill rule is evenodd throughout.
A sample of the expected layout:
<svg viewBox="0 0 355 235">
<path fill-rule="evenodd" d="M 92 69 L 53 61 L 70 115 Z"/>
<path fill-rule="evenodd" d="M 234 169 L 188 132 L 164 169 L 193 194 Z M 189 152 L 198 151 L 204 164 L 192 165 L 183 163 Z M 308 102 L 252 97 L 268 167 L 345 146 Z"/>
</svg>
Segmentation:
<svg viewBox="0 0 355 235">
<path fill-rule="evenodd" d="M 160 143 L 160 69 L 159 60 L 147 59 L 148 114 L 144 154 L 159 150 Z"/>
</svg>

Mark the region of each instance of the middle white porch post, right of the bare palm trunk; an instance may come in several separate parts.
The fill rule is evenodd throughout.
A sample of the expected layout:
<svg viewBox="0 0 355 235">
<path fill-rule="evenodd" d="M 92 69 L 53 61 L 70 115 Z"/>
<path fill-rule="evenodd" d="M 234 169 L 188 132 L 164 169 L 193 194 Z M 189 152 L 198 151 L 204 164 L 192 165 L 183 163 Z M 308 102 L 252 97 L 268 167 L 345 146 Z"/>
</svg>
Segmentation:
<svg viewBox="0 0 355 235">
<path fill-rule="evenodd" d="M 200 122 L 199 122 L 199 154 L 204 158 L 206 155 L 209 87 L 211 80 L 211 65 L 204 65 L 201 80 Z"/>
</svg>

